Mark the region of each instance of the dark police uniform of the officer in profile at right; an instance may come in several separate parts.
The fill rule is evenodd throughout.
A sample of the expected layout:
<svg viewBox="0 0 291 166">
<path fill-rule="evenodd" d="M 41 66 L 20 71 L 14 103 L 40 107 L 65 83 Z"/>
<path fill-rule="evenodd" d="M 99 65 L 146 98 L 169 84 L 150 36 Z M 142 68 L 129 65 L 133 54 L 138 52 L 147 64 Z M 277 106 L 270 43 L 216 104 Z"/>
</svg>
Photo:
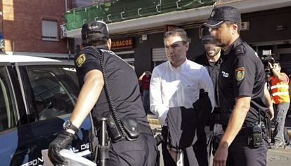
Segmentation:
<svg viewBox="0 0 291 166">
<path fill-rule="evenodd" d="M 266 165 L 266 134 L 259 148 L 249 145 L 252 134 L 250 126 L 259 122 L 259 119 L 264 122 L 267 111 L 264 83 L 264 65 L 257 53 L 245 41 L 236 39 L 224 52 L 219 74 L 219 99 L 224 129 L 235 106 L 235 98 L 247 96 L 251 97 L 251 102 L 242 129 L 228 148 L 226 165 Z"/>
</svg>

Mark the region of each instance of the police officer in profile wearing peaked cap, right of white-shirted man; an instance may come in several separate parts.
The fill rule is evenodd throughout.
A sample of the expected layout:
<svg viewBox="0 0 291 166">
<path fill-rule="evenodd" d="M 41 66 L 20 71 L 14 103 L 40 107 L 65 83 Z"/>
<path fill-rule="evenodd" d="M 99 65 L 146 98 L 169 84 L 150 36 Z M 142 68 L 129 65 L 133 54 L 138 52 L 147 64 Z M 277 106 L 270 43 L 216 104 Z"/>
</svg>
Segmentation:
<svg viewBox="0 0 291 166">
<path fill-rule="evenodd" d="M 224 50 L 219 73 L 219 100 L 224 136 L 214 155 L 216 165 L 266 165 L 264 65 L 240 39 L 240 13 L 232 6 L 214 8 L 204 23 Z"/>
</svg>

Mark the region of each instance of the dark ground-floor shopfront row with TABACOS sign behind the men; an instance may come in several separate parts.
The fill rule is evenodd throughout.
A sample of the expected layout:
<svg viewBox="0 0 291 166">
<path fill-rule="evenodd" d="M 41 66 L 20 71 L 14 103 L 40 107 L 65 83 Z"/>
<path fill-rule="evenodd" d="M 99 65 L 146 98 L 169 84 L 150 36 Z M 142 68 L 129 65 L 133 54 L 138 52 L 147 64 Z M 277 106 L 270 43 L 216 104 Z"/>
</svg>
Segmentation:
<svg viewBox="0 0 291 166">
<path fill-rule="evenodd" d="M 243 13 L 243 26 L 240 36 L 256 50 L 271 50 L 285 71 L 291 73 L 291 7 L 276 8 L 268 11 Z M 186 29 L 191 43 L 187 52 L 189 60 L 202 55 L 204 48 L 199 38 L 199 27 L 205 20 L 184 22 L 174 27 Z M 122 24 L 122 23 L 121 23 Z M 134 66 L 139 76 L 143 71 L 152 71 L 158 64 L 167 60 L 164 53 L 164 26 L 138 29 L 131 32 L 110 34 L 112 48 L 117 55 Z"/>
</svg>

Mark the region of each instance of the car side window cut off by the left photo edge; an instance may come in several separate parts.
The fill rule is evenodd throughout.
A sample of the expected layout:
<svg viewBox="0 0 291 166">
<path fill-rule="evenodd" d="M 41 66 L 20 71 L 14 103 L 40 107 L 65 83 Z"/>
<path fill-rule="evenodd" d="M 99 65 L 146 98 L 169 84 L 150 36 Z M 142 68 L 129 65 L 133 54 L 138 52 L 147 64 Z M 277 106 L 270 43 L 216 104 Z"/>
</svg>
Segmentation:
<svg viewBox="0 0 291 166">
<path fill-rule="evenodd" d="M 0 67 L 0 132 L 13 128 L 18 123 L 18 114 L 11 82 L 6 67 Z"/>
</svg>

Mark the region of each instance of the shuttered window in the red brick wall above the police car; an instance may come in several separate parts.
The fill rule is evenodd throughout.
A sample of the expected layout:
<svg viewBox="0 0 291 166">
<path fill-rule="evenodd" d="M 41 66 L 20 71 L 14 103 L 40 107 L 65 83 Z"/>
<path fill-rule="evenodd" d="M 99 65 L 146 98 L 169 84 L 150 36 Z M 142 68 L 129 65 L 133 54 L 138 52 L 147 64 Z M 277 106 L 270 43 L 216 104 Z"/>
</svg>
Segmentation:
<svg viewBox="0 0 291 166">
<path fill-rule="evenodd" d="M 42 20 L 42 40 L 58 41 L 58 22 Z"/>
</svg>

